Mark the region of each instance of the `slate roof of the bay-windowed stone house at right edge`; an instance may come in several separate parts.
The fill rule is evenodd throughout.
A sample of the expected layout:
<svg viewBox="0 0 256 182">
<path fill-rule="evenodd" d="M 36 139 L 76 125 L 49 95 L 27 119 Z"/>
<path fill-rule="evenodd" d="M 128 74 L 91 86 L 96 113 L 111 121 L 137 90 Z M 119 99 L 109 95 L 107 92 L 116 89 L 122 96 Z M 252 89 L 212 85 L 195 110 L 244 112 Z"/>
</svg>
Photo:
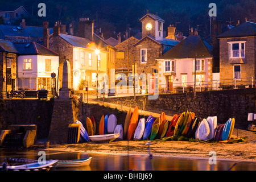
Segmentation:
<svg viewBox="0 0 256 182">
<path fill-rule="evenodd" d="M 240 25 L 220 34 L 217 38 L 234 38 L 242 36 L 256 36 L 256 23 L 243 22 Z"/>
</svg>

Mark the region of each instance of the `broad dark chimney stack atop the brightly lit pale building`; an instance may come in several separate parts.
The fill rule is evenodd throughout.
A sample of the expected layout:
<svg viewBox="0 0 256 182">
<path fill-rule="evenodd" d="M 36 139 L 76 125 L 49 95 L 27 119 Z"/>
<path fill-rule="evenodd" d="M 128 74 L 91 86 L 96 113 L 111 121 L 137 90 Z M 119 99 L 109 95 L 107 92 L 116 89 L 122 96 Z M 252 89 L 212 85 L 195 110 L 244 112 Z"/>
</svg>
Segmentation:
<svg viewBox="0 0 256 182">
<path fill-rule="evenodd" d="M 79 22 L 79 36 L 93 41 L 94 34 L 94 20 L 89 18 L 80 18 Z"/>
</svg>

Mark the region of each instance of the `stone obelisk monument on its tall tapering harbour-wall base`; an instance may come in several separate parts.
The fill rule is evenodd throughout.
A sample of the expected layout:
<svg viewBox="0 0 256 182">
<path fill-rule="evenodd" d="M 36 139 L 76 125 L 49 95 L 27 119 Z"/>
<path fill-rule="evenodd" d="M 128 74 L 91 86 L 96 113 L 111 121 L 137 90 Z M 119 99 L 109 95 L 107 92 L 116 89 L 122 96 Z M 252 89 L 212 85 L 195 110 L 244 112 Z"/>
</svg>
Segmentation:
<svg viewBox="0 0 256 182">
<path fill-rule="evenodd" d="M 67 143 L 68 141 L 68 125 L 75 123 L 77 116 L 76 107 L 69 98 L 71 88 L 71 69 L 69 61 L 65 61 L 63 65 L 63 81 L 62 88 L 59 91 L 59 99 L 54 100 L 52 111 L 51 126 L 49 129 L 48 140 L 51 143 Z"/>
</svg>

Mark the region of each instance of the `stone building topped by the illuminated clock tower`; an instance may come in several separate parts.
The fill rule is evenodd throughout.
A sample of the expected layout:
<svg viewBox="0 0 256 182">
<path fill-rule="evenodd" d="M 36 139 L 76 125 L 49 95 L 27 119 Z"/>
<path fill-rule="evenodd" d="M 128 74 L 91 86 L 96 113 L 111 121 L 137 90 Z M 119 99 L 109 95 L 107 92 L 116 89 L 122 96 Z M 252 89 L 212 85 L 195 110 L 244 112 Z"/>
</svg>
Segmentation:
<svg viewBox="0 0 256 182">
<path fill-rule="evenodd" d="M 147 12 L 140 21 L 142 23 L 141 39 L 131 36 L 131 38 L 115 46 L 117 52 L 124 52 L 123 59 L 115 57 L 115 68 L 127 68 L 129 65 L 129 71 L 133 71 L 135 60 L 135 73 L 139 75 L 141 73 L 146 75 L 147 73 L 158 73 L 156 59 L 179 41 L 163 38 L 164 20 L 157 14 Z"/>
</svg>

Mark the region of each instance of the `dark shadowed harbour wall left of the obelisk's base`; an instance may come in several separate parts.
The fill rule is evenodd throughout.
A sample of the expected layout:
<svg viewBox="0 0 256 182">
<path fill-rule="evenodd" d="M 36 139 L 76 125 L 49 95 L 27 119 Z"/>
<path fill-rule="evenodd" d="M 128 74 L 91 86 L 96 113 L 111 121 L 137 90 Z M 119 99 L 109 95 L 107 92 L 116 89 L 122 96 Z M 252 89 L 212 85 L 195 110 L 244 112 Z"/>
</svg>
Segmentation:
<svg viewBox="0 0 256 182">
<path fill-rule="evenodd" d="M 0 100 L 0 130 L 9 125 L 36 125 L 38 138 L 47 138 L 52 110 L 53 101 Z"/>
</svg>

